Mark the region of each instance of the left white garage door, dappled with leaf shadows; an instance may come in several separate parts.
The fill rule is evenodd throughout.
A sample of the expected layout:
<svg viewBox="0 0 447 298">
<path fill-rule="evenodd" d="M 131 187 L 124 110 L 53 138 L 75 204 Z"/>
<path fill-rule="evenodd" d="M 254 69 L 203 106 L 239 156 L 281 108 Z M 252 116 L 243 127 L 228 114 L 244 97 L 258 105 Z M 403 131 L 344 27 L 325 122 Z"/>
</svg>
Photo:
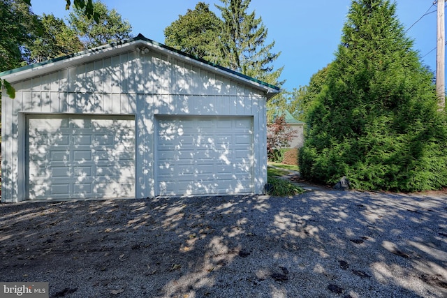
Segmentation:
<svg viewBox="0 0 447 298">
<path fill-rule="evenodd" d="M 134 198 L 135 120 L 28 118 L 29 199 Z"/>
</svg>

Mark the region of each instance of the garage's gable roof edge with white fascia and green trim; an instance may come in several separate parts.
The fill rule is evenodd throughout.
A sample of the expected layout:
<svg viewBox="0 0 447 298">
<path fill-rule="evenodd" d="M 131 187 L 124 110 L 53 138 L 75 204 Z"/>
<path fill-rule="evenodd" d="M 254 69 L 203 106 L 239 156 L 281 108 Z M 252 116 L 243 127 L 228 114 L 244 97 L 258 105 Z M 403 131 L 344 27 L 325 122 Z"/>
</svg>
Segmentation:
<svg viewBox="0 0 447 298">
<path fill-rule="evenodd" d="M 127 40 L 122 40 L 117 43 L 110 43 L 108 45 L 101 45 L 99 47 L 94 47 L 89 50 L 82 52 L 77 52 L 74 54 L 69 54 L 64 57 L 57 57 L 47 61 L 39 62 L 36 64 L 30 64 L 28 66 L 22 66 L 20 68 L 15 68 L 12 70 L 6 70 L 0 73 L 2 79 L 8 80 L 8 82 L 19 82 L 21 80 L 26 80 L 31 77 L 36 77 L 38 75 L 43 75 L 46 73 L 54 72 L 68 66 L 75 66 L 78 64 L 86 63 L 96 59 L 101 59 L 104 57 L 110 57 L 112 54 L 119 54 L 122 52 L 129 52 L 129 48 L 136 48 L 139 46 L 149 47 L 155 52 L 163 52 L 169 56 L 173 56 L 179 60 L 189 61 L 191 64 L 196 64 L 205 68 L 212 68 L 217 73 L 221 75 L 226 75 L 227 77 L 232 77 L 234 80 L 239 82 L 245 82 L 250 84 L 256 89 L 262 89 L 267 95 L 267 99 L 272 98 L 279 93 L 279 87 L 272 84 L 268 84 L 261 80 L 256 80 L 254 77 L 249 77 L 237 71 L 230 70 L 218 64 L 213 64 L 204 59 L 200 59 L 191 54 L 186 54 L 185 52 L 176 50 L 173 47 L 168 47 L 161 43 L 157 43 L 154 40 L 146 38 L 141 33 L 135 38 L 129 38 Z"/>
</svg>

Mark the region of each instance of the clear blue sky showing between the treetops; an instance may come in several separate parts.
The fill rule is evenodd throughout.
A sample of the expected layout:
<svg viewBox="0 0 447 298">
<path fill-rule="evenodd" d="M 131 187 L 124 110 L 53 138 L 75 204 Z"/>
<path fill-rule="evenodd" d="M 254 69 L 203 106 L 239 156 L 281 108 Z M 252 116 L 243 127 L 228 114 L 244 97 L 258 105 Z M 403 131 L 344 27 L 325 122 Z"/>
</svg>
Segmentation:
<svg viewBox="0 0 447 298">
<path fill-rule="evenodd" d="M 102 0 L 131 23 L 134 36 L 142 33 L 159 43 L 164 43 L 163 29 L 179 15 L 184 15 L 188 8 L 193 9 L 198 1 Z M 203 2 L 210 4 L 220 16 L 214 7 L 214 3 L 221 4 L 219 0 Z M 68 15 L 65 3 L 65 0 L 31 0 L 31 10 L 38 15 L 53 13 L 65 19 Z M 397 17 L 404 28 L 409 29 L 407 36 L 414 40 L 413 49 L 423 57 L 423 64 L 434 71 L 437 14 L 433 0 L 397 0 L 396 3 Z M 281 80 L 286 80 L 284 89 L 307 85 L 314 73 L 334 59 L 350 6 L 351 0 L 251 0 L 249 12 L 255 10 L 256 16 L 262 17 L 268 28 L 268 42 L 274 40 L 274 52 L 281 52 L 274 66 L 284 66 L 281 75 Z M 427 10 L 429 14 L 418 21 Z M 434 13 L 430 13 L 432 11 Z"/>
</svg>

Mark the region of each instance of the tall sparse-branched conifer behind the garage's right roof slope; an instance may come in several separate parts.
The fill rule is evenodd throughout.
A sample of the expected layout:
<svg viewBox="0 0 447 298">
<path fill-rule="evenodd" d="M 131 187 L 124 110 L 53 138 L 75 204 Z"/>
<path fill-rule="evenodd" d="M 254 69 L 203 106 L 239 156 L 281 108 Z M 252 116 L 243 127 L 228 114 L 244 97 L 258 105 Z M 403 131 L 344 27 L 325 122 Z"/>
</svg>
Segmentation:
<svg viewBox="0 0 447 298">
<path fill-rule="evenodd" d="M 272 62 L 279 53 L 272 53 L 274 41 L 266 44 L 268 29 L 261 17 L 247 13 L 251 0 L 221 0 L 223 30 L 221 32 L 221 54 L 223 66 L 244 75 L 256 77 L 270 84 L 280 85 L 282 67 L 274 70 Z"/>
</svg>

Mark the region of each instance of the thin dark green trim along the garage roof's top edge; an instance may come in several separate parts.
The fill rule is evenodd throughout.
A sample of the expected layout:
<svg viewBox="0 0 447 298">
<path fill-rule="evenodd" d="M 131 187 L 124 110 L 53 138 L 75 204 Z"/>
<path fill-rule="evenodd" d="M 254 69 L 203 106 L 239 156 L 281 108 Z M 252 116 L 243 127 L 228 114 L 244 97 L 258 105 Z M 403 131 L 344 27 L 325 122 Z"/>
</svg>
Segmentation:
<svg viewBox="0 0 447 298">
<path fill-rule="evenodd" d="M 191 54 L 187 54 L 187 53 L 182 52 L 180 50 L 177 50 L 177 49 L 175 49 L 173 47 L 168 47 L 168 45 L 163 45 L 162 43 L 158 43 L 158 42 L 156 42 L 156 41 L 154 41 L 152 39 L 146 38 L 141 33 L 139 33 L 138 36 L 136 36 L 134 38 L 129 38 L 129 39 L 122 40 L 122 41 L 119 41 L 119 42 L 116 42 L 116 43 L 109 43 L 108 45 L 101 45 L 99 47 L 94 47 L 92 49 L 85 50 L 85 51 L 82 51 L 82 52 L 77 52 L 77 53 L 74 53 L 74 54 L 68 54 L 66 56 L 57 57 L 57 58 L 50 59 L 50 60 L 47 60 L 47 61 L 42 61 L 42 62 L 38 62 L 38 63 L 35 63 L 35 64 L 30 64 L 30 65 L 27 65 L 27 66 L 14 68 L 14 69 L 11 69 L 11 70 L 6 70 L 6 71 L 3 71 L 3 72 L 0 73 L 0 77 L 2 77 L 4 75 L 11 75 L 13 73 L 19 73 L 22 70 L 32 69 L 32 68 L 36 68 L 36 67 L 39 67 L 39 66 L 45 66 L 47 64 L 52 64 L 52 63 L 57 62 L 57 61 L 63 61 L 65 59 L 70 59 L 70 58 L 73 58 L 73 57 L 79 57 L 79 56 L 82 56 L 84 54 L 88 54 L 88 53 L 91 53 L 91 52 L 98 52 L 98 51 L 105 50 L 105 49 L 108 49 L 108 48 L 111 48 L 111 47 L 116 47 L 117 45 L 125 45 L 126 43 L 131 43 L 133 41 L 138 41 L 138 40 L 143 40 L 143 41 L 145 41 L 147 43 L 152 43 L 152 45 L 156 45 L 158 47 L 162 47 L 163 49 L 170 50 L 171 52 L 175 52 L 177 54 L 180 54 L 182 56 L 189 57 L 190 59 L 194 59 L 194 60 L 199 61 L 199 62 L 201 62 L 203 64 L 207 64 L 207 65 L 213 66 L 215 68 L 219 68 L 220 70 L 226 71 L 227 73 L 231 73 L 233 75 L 237 75 L 238 77 L 243 77 L 246 80 L 250 80 L 251 82 L 256 82 L 257 84 L 261 84 L 261 85 L 263 85 L 265 87 L 274 89 L 276 91 L 280 90 L 279 87 L 274 86 L 272 84 L 268 84 L 267 82 L 263 82 L 261 80 L 257 80 L 254 77 L 249 77 L 248 75 L 244 75 L 242 73 L 238 73 L 235 70 L 231 70 L 229 68 L 220 66 L 219 64 L 214 64 L 214 63 L 212 63 L 210 61 L 206 61 L 205 59 L 201 59 L 201 58 L 198 58 L 198 57 L 193 56 Z"/>
</svg>

